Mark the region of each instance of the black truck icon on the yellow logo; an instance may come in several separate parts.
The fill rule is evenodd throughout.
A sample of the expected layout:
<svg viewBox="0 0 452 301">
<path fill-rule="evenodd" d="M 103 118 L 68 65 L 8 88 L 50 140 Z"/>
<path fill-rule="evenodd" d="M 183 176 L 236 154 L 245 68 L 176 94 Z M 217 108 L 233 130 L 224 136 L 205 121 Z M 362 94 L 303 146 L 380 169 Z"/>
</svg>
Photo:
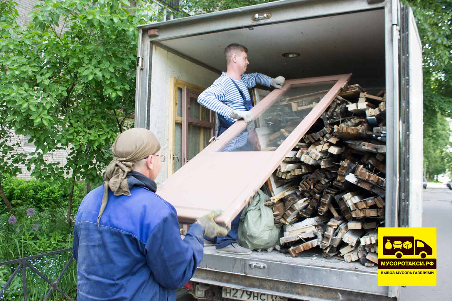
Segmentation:
<svg viewBox="0 0 452 301">
<path fill-rule="evenodd" d="M 402 255 L 420 255 L 425 258 L 432 255 L 432 248 L 414 236 L 383 236 L 383 255 L 395 255 L 402 258 Z"/>
</svg>

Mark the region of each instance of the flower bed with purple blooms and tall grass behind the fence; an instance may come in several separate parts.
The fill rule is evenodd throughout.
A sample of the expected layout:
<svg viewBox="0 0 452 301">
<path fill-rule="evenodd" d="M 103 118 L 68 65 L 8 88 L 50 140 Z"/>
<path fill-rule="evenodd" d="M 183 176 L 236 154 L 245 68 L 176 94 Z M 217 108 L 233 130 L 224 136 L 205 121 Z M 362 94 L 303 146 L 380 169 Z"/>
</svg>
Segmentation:
<svg viewBox="0 0 452 301">
<path fill-rule="evenodd" d="M 44 211 L 34 208 L 18 207 L 14 215 L 0 214 L 0 262 L 24 258 L 55 250 L 71 248 L 73 240 L 72 227 L 66 223 L 62 208 L 47 209 Z M 54 281 L 64 269 L 66 262 L 71 258 L 71 252 L 47 255 L 45 257 L 30 259 L 28 262 L 37 268 L 47 278 Z M 18 264 L 8 264 L 0 267 L 0 288 L 14 272 Z M 20 270 L 13 282 L 0 296 L 0 300 L 20 300 L 23 298 Z M 28 297 L 31 300 L 42 300 L 50 289 L 50 285 L 42 278 L 27 269 Z M 70 296 L 75 297 L 76 292 L 76 262 L 73 261 L 63 274 L 58 286 Z M 62 300 L 55 292 L 52 300 Z"/>
</svg>

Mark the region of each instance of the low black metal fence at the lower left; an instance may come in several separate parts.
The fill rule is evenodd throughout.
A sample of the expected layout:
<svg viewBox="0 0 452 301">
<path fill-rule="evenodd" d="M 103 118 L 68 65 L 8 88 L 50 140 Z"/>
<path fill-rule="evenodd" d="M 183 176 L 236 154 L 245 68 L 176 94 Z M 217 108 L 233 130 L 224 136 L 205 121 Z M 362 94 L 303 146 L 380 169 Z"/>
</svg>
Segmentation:
<svg viewBox="0 0 452 301">
<path fill-rule="evenodd" d="M 63 296 L 66 297 L 66 299 L 74 301 L 74 299 L 72 299 L 70 296 L 68 296 L 65 292 L 61 291 L 61 289 L 58 287 L 58 282 L 60 281 L 61 276 L 63 276 L 64 272 L 66 272 L 67 267 L 69 266 L 69 264 L 71 264 L 71 262 L 74 259 L 74 257 L 71 256 L 71 258 L 67 261 L 64 269 L 61 271 L 61 273 L 58 276 L 58 278 L 56 278 L 56 280 L 53 281 L 53 282 L 50 281 L 46 276 L 44 276 L 40 271 L 38 271 L 38 269 L 36 269 L 32 264 L 30 264 L 28 262 L 28 260 L 30 260 L 30 259 L 35 259 L 35 258 L 40 258 L 40 257 L 47 256 L 47 255 L 54 255 L 54 254 L 70 252 L 70 251 L 72 251 L 72 249 L 68 248 L 68 249 L 57 250 L 57 251 L 53 251 L 53 252 L 49 252 L 49 253 L 44 253 L 44 254 L 28 256 L 28 257 L 24 257 L 24 258 L 19 258 L 19 259 L 14 259 L 14 260 L 0 262 L 0 266 L 7 265 L 7 264 L 17 264 L 17 263 L 19 263 L 17 268 L 11 274 L 11 277 L 9 277 L 8 281 L 6 282 L 5 287 L 3 287 L 3 289 L 0 291 L 0 296 L 3 296 L 3 294 L 6 291 L 6 289 L 8 288 L 8 286 L 13 281 L 14 277 L 17 275 L 17 273 L 19 273 L 20 270 L 22 270 L 22 284 L 24 286 L 24 290 L 23 290 L 24 301 L 27 301 L 27 268 L 30 268 L 33 272 L 37 273 L 39 277 L 41 277 L 42 279 L 44 279 L 44 281 L 46 281 L 47 283 L 50 284 L 50 290 L 47 292 L 47 294 L 44 297 L 43 301 L 46 301 L 54 290 L 57 290 L 58 292 L 60 292 Z"/>
</svg>

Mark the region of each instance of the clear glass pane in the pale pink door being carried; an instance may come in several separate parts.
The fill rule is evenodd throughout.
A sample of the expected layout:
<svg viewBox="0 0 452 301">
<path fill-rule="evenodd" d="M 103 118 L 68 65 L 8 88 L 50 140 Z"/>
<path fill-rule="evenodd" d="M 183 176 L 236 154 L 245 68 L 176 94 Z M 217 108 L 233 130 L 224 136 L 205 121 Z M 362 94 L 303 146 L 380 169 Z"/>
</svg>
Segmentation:
<svg viewBox="0 0 452 301">
<path fill-rule="evenodd" d="M 265 133 L 257 138 L 260 149 L 253 146 L 254 133 L 244 130 L 231 139 L 220 151 L 275 150 L 279 146 L 278 142 L 286 139 L 292 133 L 336 82 L 292 85 L 258 117 L 260 127 L 256 129 L 256 133 Z"/>
</svg>

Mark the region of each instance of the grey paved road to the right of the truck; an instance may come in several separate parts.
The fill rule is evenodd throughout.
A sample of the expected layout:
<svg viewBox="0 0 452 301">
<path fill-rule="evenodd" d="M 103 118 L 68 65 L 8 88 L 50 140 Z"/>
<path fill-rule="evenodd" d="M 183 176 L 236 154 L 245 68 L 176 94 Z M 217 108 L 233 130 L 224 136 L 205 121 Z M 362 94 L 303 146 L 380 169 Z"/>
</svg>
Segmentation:
<svg viewBox="0 0 452 301">
<path fill-rule="evenodd" d="M 402 287 L 400 301 L 452 300 L 452 190 L 428 187 L 423 194 L 423 227 L 436 227 L 436 287 Z"/>
</svg>

